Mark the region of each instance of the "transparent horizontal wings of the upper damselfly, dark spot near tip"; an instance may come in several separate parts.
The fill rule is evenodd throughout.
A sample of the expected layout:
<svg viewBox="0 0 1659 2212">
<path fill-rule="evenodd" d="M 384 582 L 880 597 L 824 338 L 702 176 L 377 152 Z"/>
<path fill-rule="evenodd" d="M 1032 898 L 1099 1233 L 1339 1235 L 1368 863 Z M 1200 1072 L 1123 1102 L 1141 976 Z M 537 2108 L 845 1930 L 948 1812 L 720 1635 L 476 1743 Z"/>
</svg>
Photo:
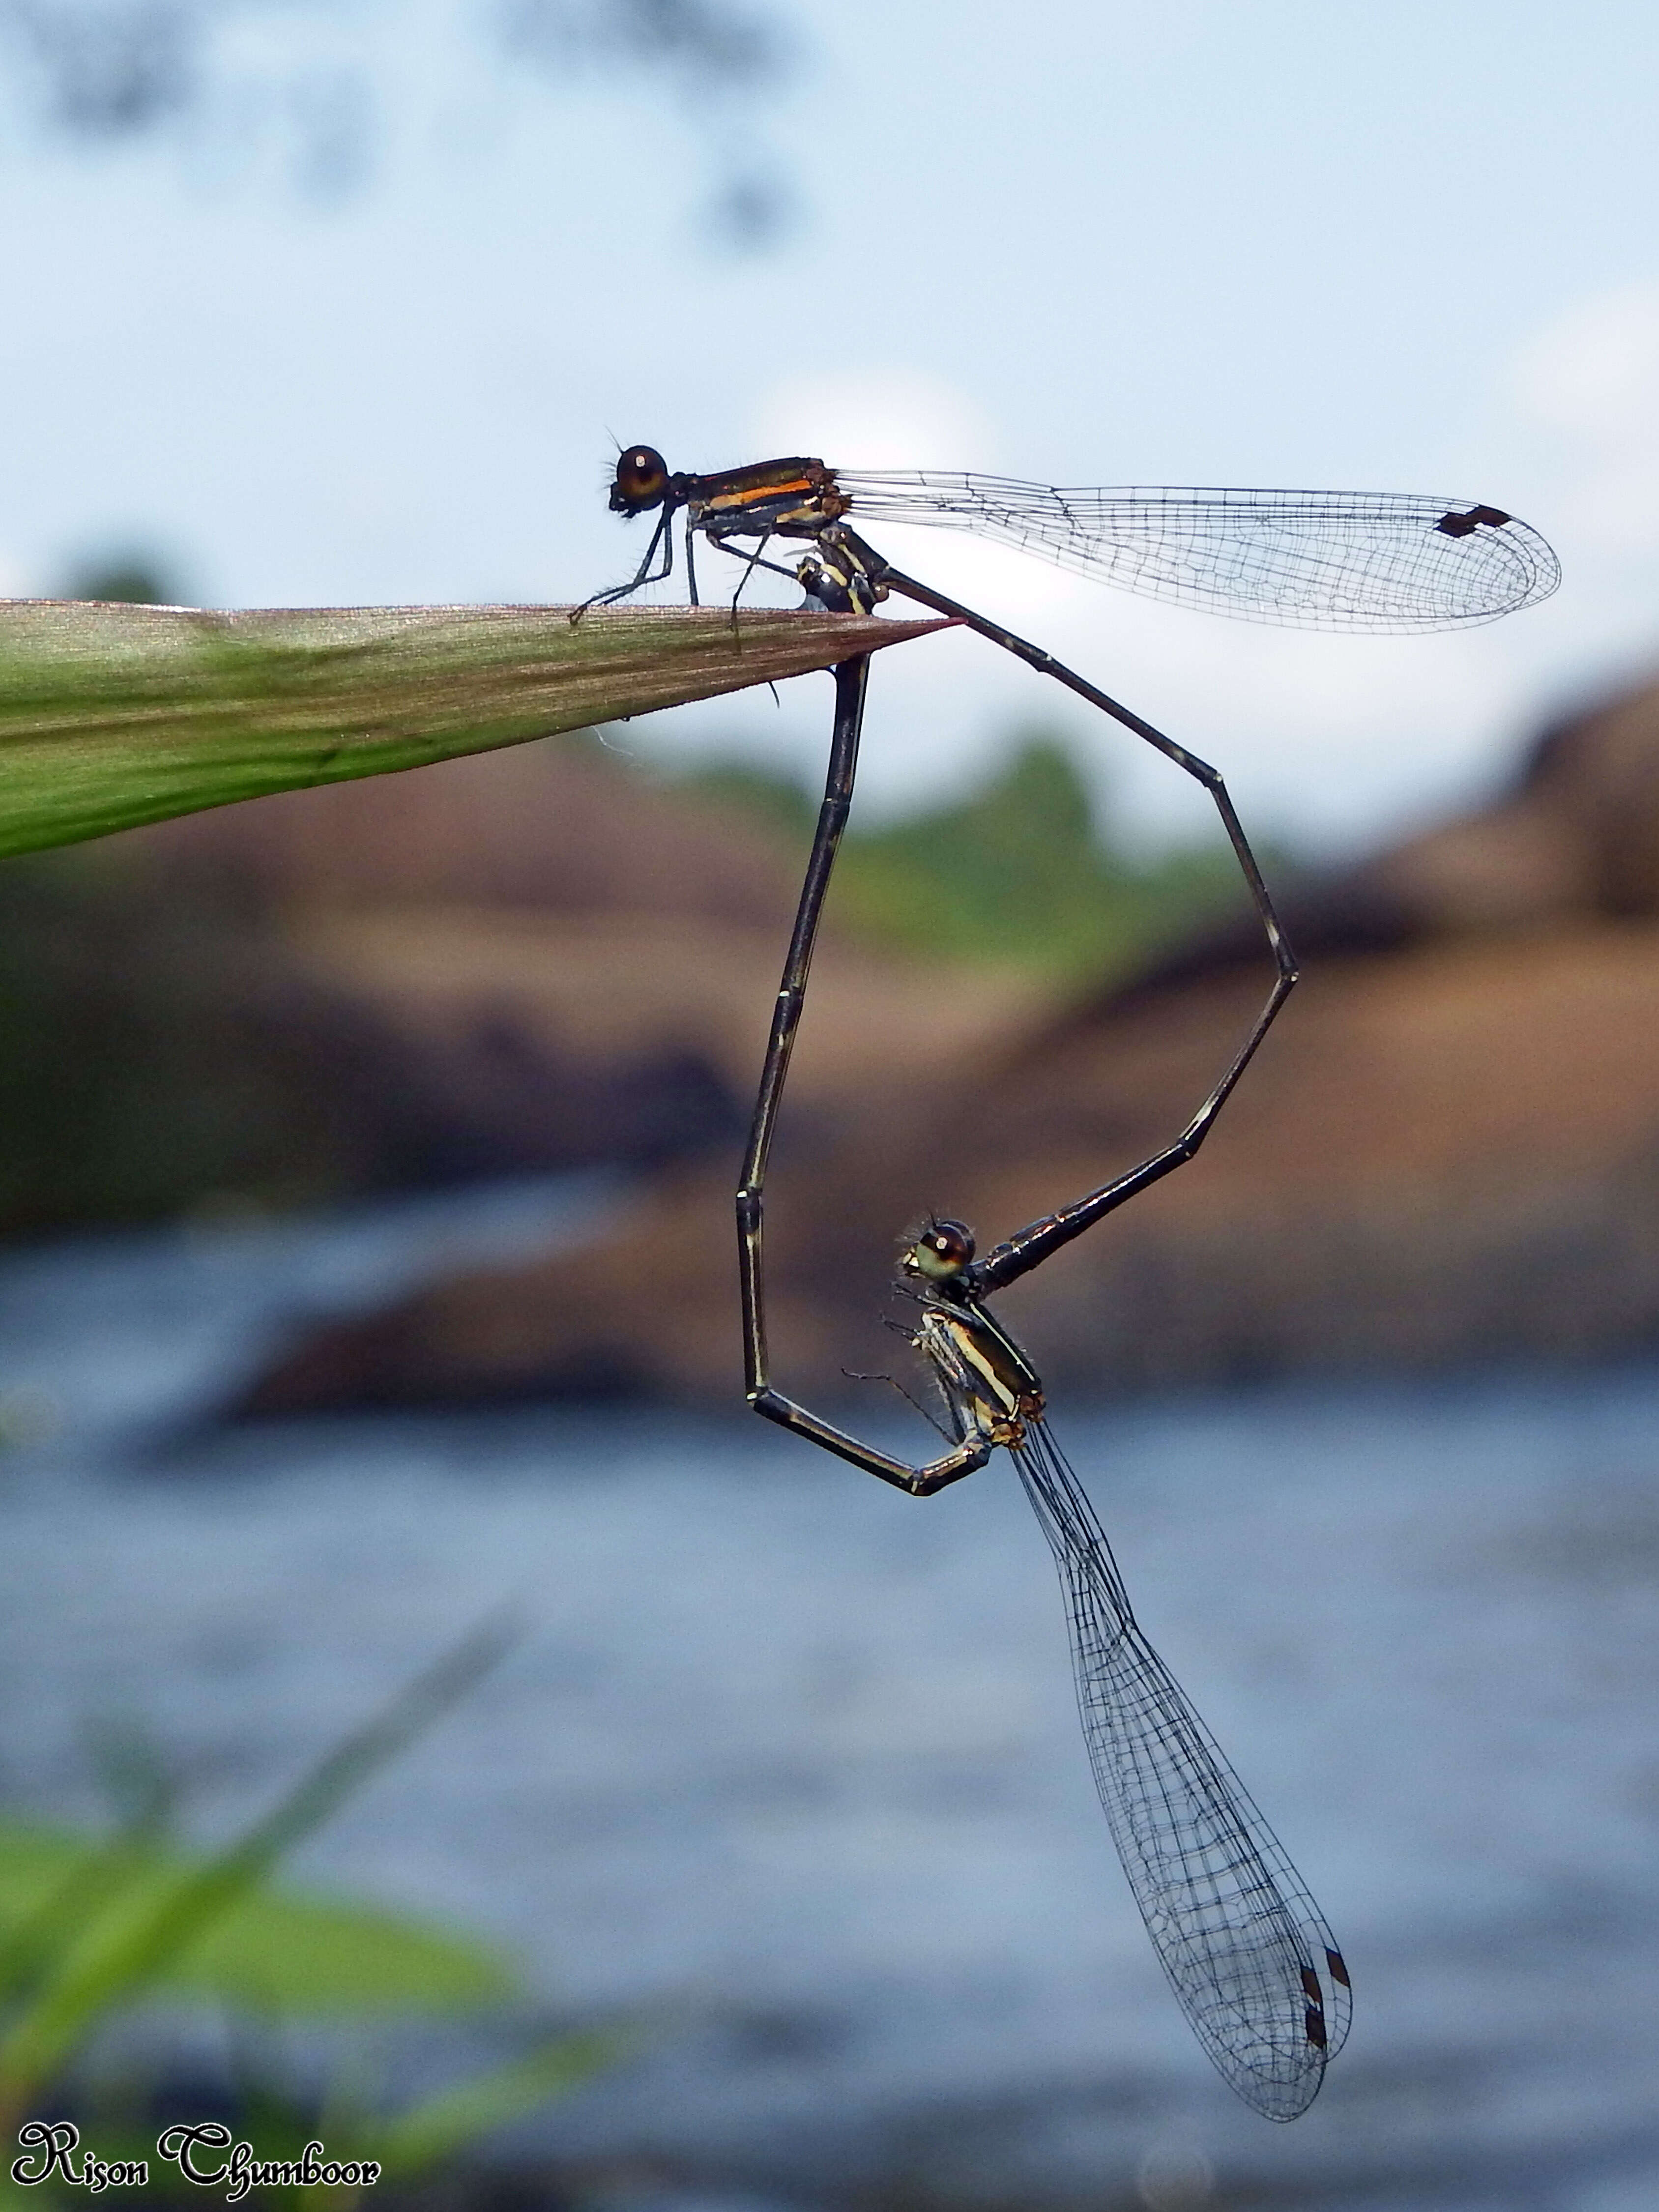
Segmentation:
<svg viewBox="0 0 1659 2212">
<path fill-rule="evenodd" d="M 1314 630 L 1444 630 L 1546 599 L 1562 564 L 1498 507 L 1409 491 L 1071 491 L 942 469 L 836 469 L 856 515 L 1004 538 L 1062 568 Z"/>
</svg>

